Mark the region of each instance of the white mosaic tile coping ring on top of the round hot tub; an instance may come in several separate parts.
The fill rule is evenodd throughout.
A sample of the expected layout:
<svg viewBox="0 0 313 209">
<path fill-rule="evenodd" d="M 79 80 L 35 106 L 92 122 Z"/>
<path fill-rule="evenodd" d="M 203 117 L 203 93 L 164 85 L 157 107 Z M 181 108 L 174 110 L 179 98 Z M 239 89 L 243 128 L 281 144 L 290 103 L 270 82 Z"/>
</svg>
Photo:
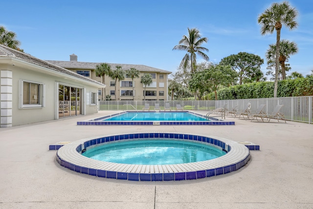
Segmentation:
<svg viewBox="0 0 313 209">
<path fill-rule="evenodd" d="M 140 134 L 145 134 L 145 133 L 160 133 L 160 132 L 140 132 Z M 188 134 L 188 133 L 173 133 L 173 132 L 161 132 L 161 133 L 195 135 L 195 134 Z M 72 163 L 74 165 L 81 166 L 81 167 L 107 170 L 107 171 L 116 171 L 116 172 L 127 172 L 127 173 L 177 173 L 177 172 L 190 172 L 190 171 L 216 169 L 216 168 L 240 163 L 249 156 L 249 150 L 247 149 L 245 145 L 240 144 L 237 141 L 233 141 L 230 139 L 224 139 L 221 137 L 209 136 L 209 135 L 195 135 L 195 136 L 208 137 L 208 138 L 223 141 L 224 143 L 226 143 L 228 146 L 231 147 L 231 150 L 224 156 L 213 159 L 213 160 L 202 161 L 202 162 L 197 162 L 197 163 L 182 163 L 182 164 L 167 164 L 167 165 L 136 165 L 136 164 L 109 163 L 109 162 L 103 162 L 103 161 L 90 159 L 88 157 L 81 155 L 79 152 L 76 151 L 76 148 L 80 144 L 84 144 L 84 142 L 89 141 L 91 139 L 98 139 L 98 138 L 116 136 L 116 135 L 127 135 L 127 134 L 138 134 L 138 133 L 121 133 L 121 134 L 114 134 L 114 135 L 112 134 L 102 135 L 98 137 L 90 137 L 90 138 L 85 138 L 85 139 L 80 139 L 77 141 L 69 142 L 68 144 L 62 146 L 58 150 L 57 156 L 59 156 L 63 161 L 66 161 L 68 163 Z M 131 140 L 131 139 L 124 139 L 124 140 Z M 182 139 L 182 140 L 189 140 L 189 139 Z M 197 142 L 206 143 L 206 142 L 201 142 L 201 141 L 197 141 Z M 105 143 L 108 143 L 108 142 L 105 142 Z"/>
</svg>

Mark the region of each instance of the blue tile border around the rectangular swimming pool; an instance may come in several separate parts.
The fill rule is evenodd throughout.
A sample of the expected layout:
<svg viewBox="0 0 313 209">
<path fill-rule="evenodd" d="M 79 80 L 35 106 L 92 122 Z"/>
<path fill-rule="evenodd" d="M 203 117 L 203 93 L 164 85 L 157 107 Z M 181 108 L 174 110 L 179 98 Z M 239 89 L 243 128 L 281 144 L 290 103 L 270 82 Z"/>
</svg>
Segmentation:
<svg viewBox="0 0 313 209">
<path fill-rule="evenodd" d="M 107 119 L 113 116 L 119 116 L 125 113 L 131 113 L 134 111 L 125 111 L 122 113 L 118 114 L 113 114 L 111 116 L 104 116 L 104 117 L 99 117 L 95 118 L 92 120 L 88 121 L 78 121 L 76 125 L 154 125 L 153 121 L 101 121 L 103 119 Z M 138 113 L 143 112 L 143 111 L 136 111 Z M 150 111 L 151 113 L 155 113 L 156 111 Z M 198 113 L 193 113 L 190 111 L 161 111 L 162 113 L 189 113 L 192 115 L 196 116 L 201 116 L 201 117 L 206 117 L 204 115 L 198 114 Z M 147 111 L 144 111 L 144 113 L 147 113 Z M 210 121 L 157 121 L 159 122 L 159 125 L 235 125 L 234 121 L 225 121 L 225 120 L 220 120 L 214 117 L 209 117 Z M 214 121 L 211 121 L 214 120 Z"/>
</svg>

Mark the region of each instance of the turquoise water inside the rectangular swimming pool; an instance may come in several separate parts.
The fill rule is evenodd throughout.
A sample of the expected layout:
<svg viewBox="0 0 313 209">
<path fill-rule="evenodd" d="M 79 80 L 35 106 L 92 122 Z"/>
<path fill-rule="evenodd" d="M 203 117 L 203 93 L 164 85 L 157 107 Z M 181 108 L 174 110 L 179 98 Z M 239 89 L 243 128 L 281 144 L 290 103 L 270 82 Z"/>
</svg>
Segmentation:
<svg viewBox="0 0 313 209">
<path fill-rule="evenodd" d="M 204 117 L 190 113 L 125 113 L 119 116 L 104 119 L 104 121 L 208 121 Z"/>
</svg>

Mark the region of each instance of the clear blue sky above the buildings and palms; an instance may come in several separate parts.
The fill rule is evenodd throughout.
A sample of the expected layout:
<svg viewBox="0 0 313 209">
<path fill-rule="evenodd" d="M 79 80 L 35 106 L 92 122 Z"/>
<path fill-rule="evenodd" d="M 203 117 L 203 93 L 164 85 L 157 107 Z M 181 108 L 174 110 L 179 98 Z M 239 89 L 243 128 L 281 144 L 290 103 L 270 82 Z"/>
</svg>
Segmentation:
<svg viewBox="0 0 313 209">
<path fill-rule="evenodd" d="M 146 65 L 175 72 L 185 52 L 172 50 L 187 28 L 198 28 L 208 42 L 210 61 L 218 63 L 241 51 L 265 64 L 276 33 L 261 36 L 258 15 L 272 0 L 6 0 L 0 25 L 14 31 L 26 53 L 43 60 Z M 291 0 L 299 11 L 298 27 L 283 27 L 281 39 L 298 45 L 291 71 L 313 70 L 313 1 Z M 198 60 L 201 62 L 201 60 Z M 291 72 L 290 71 L 290 72 Z M 289 72 L 289 73 L 290 73 Z"/>
</svg>

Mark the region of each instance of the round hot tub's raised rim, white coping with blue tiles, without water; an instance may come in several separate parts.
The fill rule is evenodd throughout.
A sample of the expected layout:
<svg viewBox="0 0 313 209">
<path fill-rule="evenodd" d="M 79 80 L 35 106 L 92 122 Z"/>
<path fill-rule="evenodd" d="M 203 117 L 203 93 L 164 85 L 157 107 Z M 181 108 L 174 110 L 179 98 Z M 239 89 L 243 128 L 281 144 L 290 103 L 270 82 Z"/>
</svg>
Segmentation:
<svg viewBox="0 0 313 209">
<path fill-rule="evenodd" d="M 138 139 L 179 139 L 210 144 L 227 154 L 212 160 L 179 164 L 125 164 L 90 159 L 83 152 L 103 143 Z M 122 157 L 122 155 L 121 155 Z M 201 179 L 236 171 L 250 159 L 248 148 L 236 141 L 221 137 L 186 133 L 128 133 L 80 139 L 62 146 L 57 162 L 70 170 L 97 177 L 129 181 L 180 181 Z"/>
</svg>

